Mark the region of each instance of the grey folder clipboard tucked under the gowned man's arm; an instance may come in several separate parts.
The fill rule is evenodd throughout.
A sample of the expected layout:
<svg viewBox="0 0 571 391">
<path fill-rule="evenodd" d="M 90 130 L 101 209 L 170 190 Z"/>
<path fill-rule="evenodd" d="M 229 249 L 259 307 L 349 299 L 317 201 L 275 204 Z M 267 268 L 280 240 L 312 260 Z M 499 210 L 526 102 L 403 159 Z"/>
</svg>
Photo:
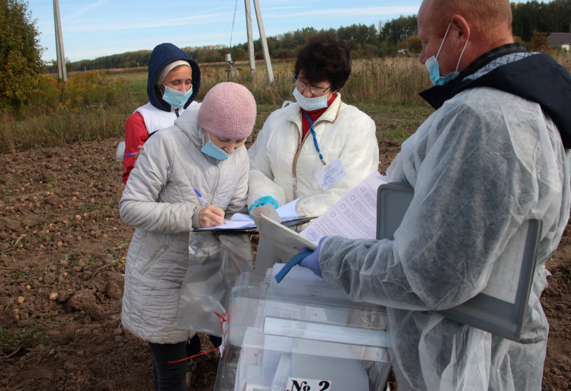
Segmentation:
<svg viewBox="0 0 571 391">
<path fill-rule="evenodd" d="M 394 238 L 395 230 L 413 200 L 414 191 L 403 183 L 387 183 L 377 193 L 377 238 Z M 510 239 L 507 248 L 515 248 L 516 254 L 504 252 L 497 261 L 492 277 L 506 265 L 512 265 L 515 294 L 506 299 L 495 293 L 497 286 L 488 283 L 485 290 L 474 298 L 448 310 L 437 311 L 440 315 L 491 332 L 508 340 L 521 341 L 522 324 L 530 297 L 532 278 L 537 261 L 541 233 L 540 220 L 525 220 Z M 518 250 L 520 249 L 520 250 Z M 508 259 L 509 258 L 509 259 Z M 513 268 L 515 266 L 515 269 Z M 492 278 L 490 278 L 490 281 Z M 507 296 L 507 295 L 506 295 Z"/>
</svg>

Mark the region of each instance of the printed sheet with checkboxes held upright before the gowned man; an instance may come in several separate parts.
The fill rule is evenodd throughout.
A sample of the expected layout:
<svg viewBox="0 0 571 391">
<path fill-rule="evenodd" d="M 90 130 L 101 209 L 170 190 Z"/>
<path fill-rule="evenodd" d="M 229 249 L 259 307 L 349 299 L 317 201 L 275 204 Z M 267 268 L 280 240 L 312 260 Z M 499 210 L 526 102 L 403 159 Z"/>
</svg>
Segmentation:
<svg viewBox="0 0 571 391">
<path fill-rule="evenodd" d="M 374 239 L 377 234 L 377 191 L 387 183 L 378 171 L 359 183 L 323 215 L 300 232 L 312 243 L 323 236 L 343 236 L 349 239 Z"/>
</svg>

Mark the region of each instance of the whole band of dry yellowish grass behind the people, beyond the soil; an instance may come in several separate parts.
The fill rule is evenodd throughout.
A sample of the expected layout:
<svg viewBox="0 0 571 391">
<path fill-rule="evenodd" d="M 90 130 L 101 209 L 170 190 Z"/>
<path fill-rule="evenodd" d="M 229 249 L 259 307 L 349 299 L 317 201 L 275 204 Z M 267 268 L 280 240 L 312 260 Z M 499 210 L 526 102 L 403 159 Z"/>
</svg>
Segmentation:
<svg viewBox="0 0 571 391">
<path fill-rule="evenodd" d="M 571 71 L 567 52 L 553 54 Z M 251 74 L 247 61 L 201 65 L 198 101 L 212 86 L 235 81 L 250 88 L 258 103 L 258 131 L 271 111 L 293 101 L 293 61 L 272 62 L 273 83 L 263 61 Z M 36 100 L 20 115 L 0 112 L 0 153 L 61 146 L 122 136 L 133 108 L 146 103 L 146 69 L 74 72 L 68 83 L 44 76 Z M 358 106 L 377 123 L 379 140 L 402 142 L 430 114 L 418 92 L 430 87 L 425 67 L 416 57 L 353 61 L 353 72 L 341 93 L 343 101 Z"/>
</svg>

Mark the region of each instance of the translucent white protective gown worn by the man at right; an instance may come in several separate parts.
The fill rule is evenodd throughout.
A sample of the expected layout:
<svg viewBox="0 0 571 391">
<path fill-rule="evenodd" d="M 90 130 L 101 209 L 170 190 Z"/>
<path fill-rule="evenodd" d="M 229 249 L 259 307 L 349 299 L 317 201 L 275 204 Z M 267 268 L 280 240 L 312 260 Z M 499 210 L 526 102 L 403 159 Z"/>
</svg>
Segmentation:
<svg viewBox="0 0 571 391">
<path fill-rule="evenodd" d="M 388 307 L 398 389 L 540 390 L 545 261 L 570 213 L 570 155 L 553 121 L 537 103 L 471 88 L 403 143 L 387 174 L 415 191 L 394 240 L 326 238 L 319 263 L 352 300 Z M 542 232 L 524 343 L 432 312 L 480 293 L 528 218 Z"/>
</svg>

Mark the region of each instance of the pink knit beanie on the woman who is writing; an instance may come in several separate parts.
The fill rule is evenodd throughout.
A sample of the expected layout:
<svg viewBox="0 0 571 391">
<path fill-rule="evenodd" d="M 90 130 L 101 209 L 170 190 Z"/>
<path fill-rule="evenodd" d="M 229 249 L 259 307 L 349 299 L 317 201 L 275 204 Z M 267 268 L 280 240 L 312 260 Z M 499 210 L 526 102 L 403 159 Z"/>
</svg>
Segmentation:
<svg viewBox="0 0 571 391">
<path fill-rule="evenodd" d="M 198 125 L 222 138 L 246 138 L 256 122 L 256 100 L 248 88 L 226 81 L 213 86 L 198 109 Z"/>
</svg>

